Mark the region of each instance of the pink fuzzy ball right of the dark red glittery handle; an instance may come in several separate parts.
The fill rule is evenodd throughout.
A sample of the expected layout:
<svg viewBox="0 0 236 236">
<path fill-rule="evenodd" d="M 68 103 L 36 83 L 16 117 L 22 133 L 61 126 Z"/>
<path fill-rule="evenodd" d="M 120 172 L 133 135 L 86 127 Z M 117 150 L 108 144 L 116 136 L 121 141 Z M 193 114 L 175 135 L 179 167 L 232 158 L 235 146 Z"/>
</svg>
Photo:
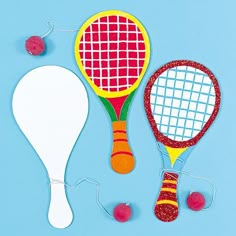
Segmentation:
<svg viewBox="0 0 236 236">
<path fill-rule="evenodd" d="M 205 197 L 198 192 L 191 193 L 187 198 L 188 207 L 193 211 L 200 211 L 206 203 Z"/>
</svg>

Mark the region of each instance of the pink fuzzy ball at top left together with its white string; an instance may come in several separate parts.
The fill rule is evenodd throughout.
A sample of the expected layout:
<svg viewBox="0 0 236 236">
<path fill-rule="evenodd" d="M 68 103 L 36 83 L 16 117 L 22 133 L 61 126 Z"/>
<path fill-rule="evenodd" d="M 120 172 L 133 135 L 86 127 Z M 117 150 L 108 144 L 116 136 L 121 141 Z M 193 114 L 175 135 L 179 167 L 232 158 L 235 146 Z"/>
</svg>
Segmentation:
<svg viewBox="0 0 236 236">
<path fill-rule="evenodd" d="M 67 30 L 67 29 L 56 29 L 54 24 L 50 21 L 46 22 L 47 27 L 49 28 L 46 33 L 41 36 L 31 36 L 25 41 L 25 49 L 32 56 L 42 55 L 46 50 L 46 44 L 44 38 L 47 37 L 52 32 L 77 32 L 79 29 Z"/>
</svg>

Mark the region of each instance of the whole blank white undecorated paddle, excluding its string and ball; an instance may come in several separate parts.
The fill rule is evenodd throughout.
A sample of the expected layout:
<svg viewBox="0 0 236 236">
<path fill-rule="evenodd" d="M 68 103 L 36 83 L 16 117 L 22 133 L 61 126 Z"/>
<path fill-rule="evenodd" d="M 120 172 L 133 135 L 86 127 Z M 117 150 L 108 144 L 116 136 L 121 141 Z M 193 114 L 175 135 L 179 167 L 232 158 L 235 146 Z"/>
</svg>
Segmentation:
<svg viewBox="0 0 236 236">
<path fill-rule="evenodd" d="M 63 67 L 36 68 L 17 85 L 12 107 L 49 178 L 64 181 L 68 158 L 88 115 L 88 97 L 82 82 Z M 65 228 L 72 222 L 62 184 L 51 185 L 48 218 L 56 228 Z"/>
</svg>

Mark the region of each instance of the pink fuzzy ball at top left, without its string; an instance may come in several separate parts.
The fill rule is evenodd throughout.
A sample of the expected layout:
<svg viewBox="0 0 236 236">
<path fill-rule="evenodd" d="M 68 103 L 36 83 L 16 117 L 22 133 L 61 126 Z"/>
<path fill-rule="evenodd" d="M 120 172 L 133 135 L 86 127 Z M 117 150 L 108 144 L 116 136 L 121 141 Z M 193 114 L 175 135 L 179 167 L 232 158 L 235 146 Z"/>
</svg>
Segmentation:
<svg viewBox="0 0 236 236">
<path fill-rule="evenodd" d="M 25 42 L 27 52 L 33 56 L 38 56 L 45 51 L 45 43 L 39 36 L 31 36 Z"/>
</svg>

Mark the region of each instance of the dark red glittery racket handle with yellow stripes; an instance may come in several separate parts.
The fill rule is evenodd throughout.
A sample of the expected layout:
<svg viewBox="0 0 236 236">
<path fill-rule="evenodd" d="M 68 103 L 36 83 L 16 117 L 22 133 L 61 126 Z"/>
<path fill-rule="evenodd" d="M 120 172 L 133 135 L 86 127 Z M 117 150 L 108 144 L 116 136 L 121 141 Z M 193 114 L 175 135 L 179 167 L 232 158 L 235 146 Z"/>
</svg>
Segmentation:
<svg viewBox="0 0 236 236">
<path fill-rule="evenodd" d="M 177 199 L 178 174 L 165 172 L 155 206 L 156 217 L 164 222 L 174 221 L 179 213 Z"/>
</svg>

